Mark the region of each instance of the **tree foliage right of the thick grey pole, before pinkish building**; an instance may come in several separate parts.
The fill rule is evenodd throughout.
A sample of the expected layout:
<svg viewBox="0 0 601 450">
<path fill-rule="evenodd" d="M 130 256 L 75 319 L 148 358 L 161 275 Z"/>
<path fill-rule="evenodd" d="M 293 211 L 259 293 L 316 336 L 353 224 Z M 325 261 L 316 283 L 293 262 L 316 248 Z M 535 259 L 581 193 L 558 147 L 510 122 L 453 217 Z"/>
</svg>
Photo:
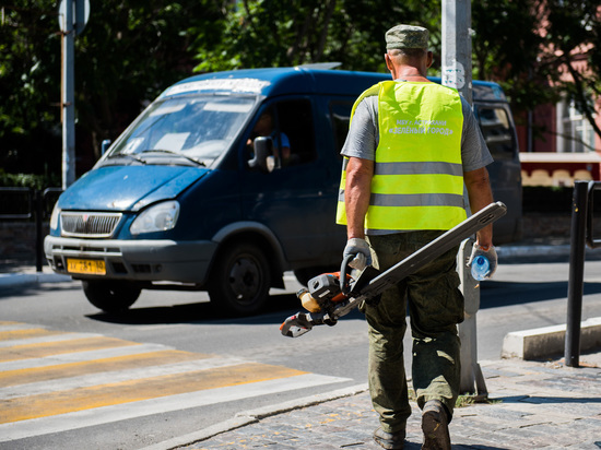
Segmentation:
<svg viewBox="0 0 601 450">
<path fill-rule="evenodd" d="M 472 20 L 475 76 L 498 81 L 517 112 L 571 99 L 601 137 L 593 117 L 601 98 L 598 0 L 482 0 L 472 3 Z"/>
</svg>

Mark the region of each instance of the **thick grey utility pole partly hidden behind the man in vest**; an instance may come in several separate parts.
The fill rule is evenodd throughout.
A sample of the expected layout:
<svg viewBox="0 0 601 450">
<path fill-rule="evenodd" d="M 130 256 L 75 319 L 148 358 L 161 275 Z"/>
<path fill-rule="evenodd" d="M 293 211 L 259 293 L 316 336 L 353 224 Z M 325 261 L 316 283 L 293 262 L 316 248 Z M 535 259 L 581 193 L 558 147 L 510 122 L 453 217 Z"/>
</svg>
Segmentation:
<svg viewBox="0 0 601 450">
<path fill-rule="evenodd" d="M 455 87 L 471 105 L 472 98 L 472 5 L 471 0 L 443 0 L 443 84 Z M 463 189 L 466 209 L 470 214 L 467 190 Z M 487 390 L 478 364 L 475 315 L 480 309 L 480 284 L 474 282 L 466 260 L 471 253 L 473 239 L 462 242 L 457 257 L 460 289 L 466 300 L 464 320 L 459 324 L 461 341 L 460 392 L 486 398 Z"/>
</svg>

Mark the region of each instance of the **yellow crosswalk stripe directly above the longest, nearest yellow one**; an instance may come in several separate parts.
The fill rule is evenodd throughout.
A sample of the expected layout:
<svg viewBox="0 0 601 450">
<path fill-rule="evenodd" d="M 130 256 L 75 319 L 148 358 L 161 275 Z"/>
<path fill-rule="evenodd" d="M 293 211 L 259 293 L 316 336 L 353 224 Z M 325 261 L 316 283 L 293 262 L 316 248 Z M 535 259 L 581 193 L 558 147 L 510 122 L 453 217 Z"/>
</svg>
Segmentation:
<svg viewBox="0 0 601 450">
<path fill-rule="evenodd" d="M 98 374 L 103 371 L 127 370 L 132 368 L 162 366 L 189 360 L 205 359 L 210 355 L 202 355 L 181 351 L 161 351 L 138 355 L 115 356 L 90 362 L 67 363 L 56 366 L 35 367 L 0 371 L 0 386 L 26 384 L 39 381 L 58 380 L 68 377 Z"/>
</svg>

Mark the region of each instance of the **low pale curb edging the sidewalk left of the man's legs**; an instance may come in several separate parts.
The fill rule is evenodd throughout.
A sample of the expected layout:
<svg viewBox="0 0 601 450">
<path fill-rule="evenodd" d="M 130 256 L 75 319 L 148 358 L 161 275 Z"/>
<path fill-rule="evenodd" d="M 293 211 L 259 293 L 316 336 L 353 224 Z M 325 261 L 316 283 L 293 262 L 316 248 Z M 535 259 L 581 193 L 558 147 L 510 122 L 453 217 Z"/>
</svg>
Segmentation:
<svg viewBox="0 0 601 450">
<path fill-rule="evenodd" d="M 331 392 L 321 394 L 315 394 L 305 396 L 290 402 L 274 404 L 270 406 L 259 407 L 257 410 L 249 410 L 236 414 L 236 416 L 229 421 L 224 421 L 220 424 L 212 425 L 199 431 L 190 433 L 188 435 L 178 436 L 173 439 L 164 440 L 163 442 L 154 443 L 149 447 L 144 447 L 140 450 L 172 450 L 178 447 L 189 446 L 195 442 L 207 440 L 213 436 L 221 435 L 222 433 L 232 431 L 233 429 L 244 427 L 246 425 L 256 424 L 262 418 L 270 417 L 276 414 L 287 413 L 293 410 L 300 410 L 303 407 L 315 406 L 320 403 L 326 403 L 332 400 L 342 399 L 345 396 L 356 395 L 367 391 L 367 383 L 352 386 L 350 388 L 343 388 Z"/>
</svg>

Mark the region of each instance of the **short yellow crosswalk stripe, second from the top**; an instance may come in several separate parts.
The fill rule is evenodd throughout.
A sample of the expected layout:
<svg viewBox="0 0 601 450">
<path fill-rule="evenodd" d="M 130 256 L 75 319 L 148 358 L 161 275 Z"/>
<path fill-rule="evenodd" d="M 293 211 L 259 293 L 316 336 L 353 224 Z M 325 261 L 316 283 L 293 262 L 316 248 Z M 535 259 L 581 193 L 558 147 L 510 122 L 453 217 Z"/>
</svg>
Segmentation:
<svg viewBox="0 0 601 450">
<path fill-rule="evenodd" d="M 71 341 L 42 342 L 37 344 L 14 345 L 0 348 L 0 362 L 43 358 L 45 356 L 63 355 L 67 353 L 87 352 L 93 350 L 126 347 L 140 345 L 135 342 L 116 338 L 94 336 Z"/>
</svg>

